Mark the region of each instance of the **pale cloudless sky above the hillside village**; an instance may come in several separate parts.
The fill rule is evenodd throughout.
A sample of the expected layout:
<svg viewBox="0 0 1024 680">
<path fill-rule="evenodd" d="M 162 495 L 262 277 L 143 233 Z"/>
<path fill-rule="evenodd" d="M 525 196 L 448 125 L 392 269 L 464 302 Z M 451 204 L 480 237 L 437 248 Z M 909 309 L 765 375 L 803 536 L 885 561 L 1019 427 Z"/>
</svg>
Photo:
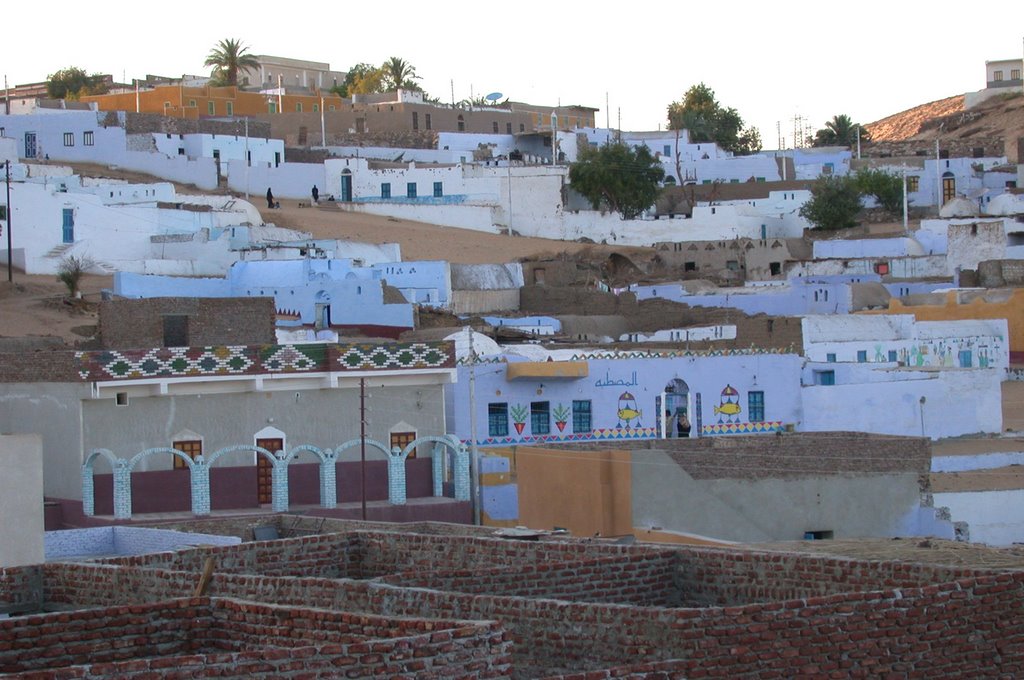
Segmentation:
<svg viewBox="0 0 1024 680">
<path fill-rule="evenodd" d="M 502 92 L 530 103 L 600 109 L 626 130 L 666 126 L 666 108 L 698 82 L 777 146 L 795 116 L 869 123 L 984 87 L 985 60 L 1024 53 L 1024 2 L 869 0 L 625 3 L 446 2 L 155 5 L 112 0 L 8 2 L 0 71 L 11 85 L 68 66 L 111 73 L 207 74 L 220 39 L 255 54 L 344 71 L 389 56 L 412 62 L 433 96 Z M 605 96 L 609 105 L 606 118 Z"/>
</svg>

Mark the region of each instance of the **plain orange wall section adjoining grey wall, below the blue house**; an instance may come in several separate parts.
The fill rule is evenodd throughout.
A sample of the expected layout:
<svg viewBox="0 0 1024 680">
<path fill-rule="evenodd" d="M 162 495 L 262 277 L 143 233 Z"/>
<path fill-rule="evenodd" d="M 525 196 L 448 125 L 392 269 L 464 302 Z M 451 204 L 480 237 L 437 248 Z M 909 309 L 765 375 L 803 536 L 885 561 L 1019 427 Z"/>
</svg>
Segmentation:
<svg viewBox="0 0 1024 680">
<path fill-rule="evenodd" d="M 629 451 L 565 451 L 539 447 L 488 450 L 512 461 L 523 526 L 567 528 L 572 536 L 633 533 L 632 455 Z M 489 477 L 490 475 L 486 475 Z M 484 485 L 488 484 L 484 478 Z M 492 483 L 507 483 L 495 479 Z M 509 522 L 487 522 L 507 525 Z"/>
</svg>

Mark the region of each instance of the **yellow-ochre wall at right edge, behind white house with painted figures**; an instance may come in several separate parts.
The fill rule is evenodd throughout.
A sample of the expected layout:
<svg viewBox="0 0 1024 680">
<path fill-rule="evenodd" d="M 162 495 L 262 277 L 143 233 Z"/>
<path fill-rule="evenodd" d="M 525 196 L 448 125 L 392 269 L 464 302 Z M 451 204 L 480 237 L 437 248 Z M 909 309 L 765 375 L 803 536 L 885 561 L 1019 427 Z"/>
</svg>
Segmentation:
<svg viewBox="0 0 1024 680">
<path fill-rule="evenodd" d="M 935 295 L 935 294 L 933 294 Z M 957 299 L 963 302 L 957 303 Z M 995 289 L 984 292 L 950 291 L 944 304 L 903 304 L 889 301 L 889 309 L 865 310 L 862 314 L 913 314 L 919 322 L 948 322 L 965 318 L 1006 318 L 1011 362 L 1024 359 L 1024 289 Z"/>
</svg>

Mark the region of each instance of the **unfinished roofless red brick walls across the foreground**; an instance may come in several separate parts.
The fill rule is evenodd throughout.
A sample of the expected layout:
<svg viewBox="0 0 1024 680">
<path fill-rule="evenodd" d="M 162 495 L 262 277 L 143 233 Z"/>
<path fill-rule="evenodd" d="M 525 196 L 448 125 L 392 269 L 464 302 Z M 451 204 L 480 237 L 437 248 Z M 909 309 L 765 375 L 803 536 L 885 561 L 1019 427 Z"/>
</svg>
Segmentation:
<svg viewBox="0 0 1024 680">
<path fill-rule="evenodd" d="M 0 672 L 132 677 L 174 669 L 171 675 L 189 677 L 212 668 L 226 677 L 301 671 L 517 678 L 1024 672 L 1022 572 L 334 526 L 348 530 L 8 569 L 0 573 L 0 603 L 27 615 L 0 622 Z M 208 557 L 216 563 L 208 598 L 180 599 Z M 52 609 L 62 611 L 35 613 Z M 62 635 L 54 637 L 58 630 Z"/>
</svg>

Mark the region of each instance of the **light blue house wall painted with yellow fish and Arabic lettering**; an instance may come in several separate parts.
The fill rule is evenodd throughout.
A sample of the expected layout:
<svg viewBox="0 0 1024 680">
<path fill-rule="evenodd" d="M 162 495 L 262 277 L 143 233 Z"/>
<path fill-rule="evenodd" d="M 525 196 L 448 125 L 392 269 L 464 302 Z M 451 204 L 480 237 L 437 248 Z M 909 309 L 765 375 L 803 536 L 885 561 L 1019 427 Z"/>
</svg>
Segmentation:
<svg viewBox="0 0 1024 680">
<path fill-rule="evenodd" d="M 505 358 L 513 363 L 521 360 L 511 355 Z M 477 443 L 505 445 L 657 438 L 659 421 L 664 418 L 658 399 L 675 379 L 685 381 L 689 388 L 689 396 L 679 406 L 687 409 L 691 436 L 697 435 L 700 425 L 705 428 L 703 434 L 710 436 L 776 431 L 786 423 L 800 420 L 802 358 L 796 354 L 692 353 L 674 357 L 623 354 L 581 360 L 588 365 L 588 376 L 577 379 L 520 378 L 510 381 L 506 379 L 505 363 L 475 366 L 472 370 L 476 382 Z M 447 386 L 452 394 L 449 405 L 454 411 L 450 412 L 451 422 L 455 432 L 464 439 L 470 438 L 470 370 L 460 367 L 458 382 Z M 731 394 L 731 390 L 735 393 Z M 749 420 L 752 391 L 763 393 L 763 422 Z M 591 431 L 574 431 L 573 401 L 590 401 Z M 548 403 L 550 433 L 534 431 L 529 415 L 531 402 Z M 488 406 L 492 403 L 508 407 L 508 434 L 505 436 L 492 436 L 488 431 Z M 728 406 L 731 403 L 738 406 L 738 410 Z M 558 427 L 560 421 L 564 423 L 561 429 Z M 521 432 L 516 428 L 517 422 L 522 426 Z"/>
</svg>

